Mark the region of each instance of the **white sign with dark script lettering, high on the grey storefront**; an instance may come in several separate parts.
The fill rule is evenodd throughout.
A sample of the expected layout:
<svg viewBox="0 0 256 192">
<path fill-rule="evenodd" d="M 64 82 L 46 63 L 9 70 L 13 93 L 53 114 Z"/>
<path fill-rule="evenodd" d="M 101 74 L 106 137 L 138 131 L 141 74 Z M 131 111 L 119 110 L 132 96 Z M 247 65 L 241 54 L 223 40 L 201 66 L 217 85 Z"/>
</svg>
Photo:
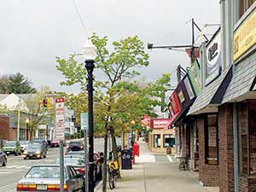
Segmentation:
<svg viewBox="0 0 256 192">
<path fill-rule="evenodd" d="M 210 84 L 221 72 L 220 42 L 220 30 L 218 30 L 211 42 L 207 44 L 206 84 Z"/>
</svg>

